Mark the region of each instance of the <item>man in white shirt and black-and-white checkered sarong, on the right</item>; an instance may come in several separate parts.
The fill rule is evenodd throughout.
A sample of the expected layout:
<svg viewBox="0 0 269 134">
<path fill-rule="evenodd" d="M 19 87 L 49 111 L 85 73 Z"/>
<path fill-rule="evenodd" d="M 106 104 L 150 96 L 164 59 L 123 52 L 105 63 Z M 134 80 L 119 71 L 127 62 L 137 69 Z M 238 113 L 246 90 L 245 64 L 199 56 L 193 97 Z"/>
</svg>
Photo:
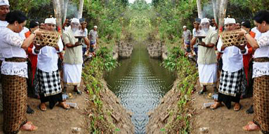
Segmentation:
<svg viewBox="0 0 269 134">
<path fill-rule="evenodd" d="M 227 31 L 236 30 L 236 21 L 234 18 L 226 18 L 224 21 Z M 244 46 L 240 49 L 236 46 L 226 47 L 223 45 L 222 37 L 219 38 L 217 49 L 222 52 L 223 67 L 221 71 L 218 101 L 211 106 L 212 109 L 220 107 L 222 102 L 228 109 L 231 108 L 231 102 L 235 102 L 234 111 L 241 109 L 240 96 L 243 84 L 243 54 L 247 54 Z M 241 49 L 243 51 L 241 51 Z"/>
</svg>

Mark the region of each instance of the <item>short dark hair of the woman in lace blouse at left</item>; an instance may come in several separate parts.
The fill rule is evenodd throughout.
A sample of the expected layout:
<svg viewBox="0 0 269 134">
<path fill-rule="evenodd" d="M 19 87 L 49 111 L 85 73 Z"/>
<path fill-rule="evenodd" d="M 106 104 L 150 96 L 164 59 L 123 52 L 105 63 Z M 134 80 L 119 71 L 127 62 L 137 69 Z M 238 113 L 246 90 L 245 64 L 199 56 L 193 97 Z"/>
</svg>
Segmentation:
<svg viewBox="0 0 269 134">
<path fill-rule="evenodd" d="M 27 17 L 22 11 L 14 10 L 6 14 L 5 21 L 7 21 L 9 24 L 13 24 L 15 21 L 18 21 L 18 23 L 23 23 Z"/>
</svg>

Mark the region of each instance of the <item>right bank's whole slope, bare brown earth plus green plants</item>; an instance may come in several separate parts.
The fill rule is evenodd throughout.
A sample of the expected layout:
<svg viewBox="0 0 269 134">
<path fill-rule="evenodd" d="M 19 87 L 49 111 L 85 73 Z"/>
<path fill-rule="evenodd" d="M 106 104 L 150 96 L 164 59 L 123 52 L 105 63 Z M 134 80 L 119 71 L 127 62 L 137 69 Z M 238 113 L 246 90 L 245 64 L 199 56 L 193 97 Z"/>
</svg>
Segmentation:
<svg viewBox="0 0 269 134">
<path fill-rule="evenodd" d="M 198 71 L 195 63 L 184 57 L 179 47 L 168 49 L 168 53 L 168 58 L 162 65 L 169 70 L 177 71 L 178 78 L 159 106 L 149 113 L 147 133 L 189 134 L 193 114 L 190 106 L 191 94 L 198 78 Z"/>
</svg>

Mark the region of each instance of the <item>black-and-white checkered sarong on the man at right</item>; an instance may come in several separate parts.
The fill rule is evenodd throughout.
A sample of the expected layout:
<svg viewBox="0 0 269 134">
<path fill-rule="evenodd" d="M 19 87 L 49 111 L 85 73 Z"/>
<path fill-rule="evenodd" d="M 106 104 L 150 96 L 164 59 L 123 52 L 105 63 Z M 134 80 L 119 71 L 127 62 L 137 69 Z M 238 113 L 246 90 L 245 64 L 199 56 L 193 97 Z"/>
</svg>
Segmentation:
<svg viewBox="0 0 269 134">
<path fill-rule="evenodd" d="M 243 69 L 235 72 L 221 70 L 219 92 L 225 95 L 236 96 L 241 93 Z"/>
</svg>

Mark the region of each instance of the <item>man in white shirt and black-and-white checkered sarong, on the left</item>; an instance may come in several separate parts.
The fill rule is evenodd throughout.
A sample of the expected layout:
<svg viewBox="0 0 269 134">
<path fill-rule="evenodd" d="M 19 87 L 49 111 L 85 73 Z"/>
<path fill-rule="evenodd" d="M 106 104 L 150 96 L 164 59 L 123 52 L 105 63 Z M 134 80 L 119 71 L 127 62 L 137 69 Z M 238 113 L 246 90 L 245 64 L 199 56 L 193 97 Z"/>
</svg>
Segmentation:
<svg viewBox="0 0 269 134">
<path fill-rule="evenodd" d="M 45 29 L 54 31 L 56 28 L 55 18 L 45 19 Z M 61 38 L 58 41 L 58 47 L 42 46 L 35 44 L 33 54 L 37 54 L 37 79 L 39 85 L 39 96 L 41 104 L 39 108 L 41 111 L 46 111 L 46 102 L 49 102 L 49 108 L 52 109 L 54 105 L 59 102 L 59 105 L 64 109 L 69 109 L 70 106 L 65 103 L 62 98 L 62 89 L 60 84 L 60 75 L 58 70 L 58 54 L 63 50 L 63 43 Z"/>
</svg>

